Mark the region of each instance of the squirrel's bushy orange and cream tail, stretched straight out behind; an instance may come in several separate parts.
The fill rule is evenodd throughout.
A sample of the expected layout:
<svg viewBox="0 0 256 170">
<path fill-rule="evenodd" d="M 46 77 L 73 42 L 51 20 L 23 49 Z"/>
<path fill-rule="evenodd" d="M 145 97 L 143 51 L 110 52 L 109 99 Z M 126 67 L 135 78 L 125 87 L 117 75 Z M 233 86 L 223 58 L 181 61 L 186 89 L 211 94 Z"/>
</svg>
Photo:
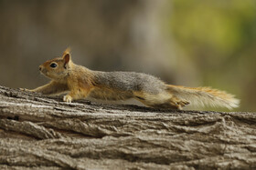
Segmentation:
<svg viewBox="0 0 256 170">
<path fill-rule="evenodd" d="M 227 107 L 229 109 L 238 107 L 240 100 L 234 95 L 210 87 L 185 87 L 168 85 L 168 91 L 176 97 L 187 100 L 191 105 L 209 105 Z"/>
</svg>

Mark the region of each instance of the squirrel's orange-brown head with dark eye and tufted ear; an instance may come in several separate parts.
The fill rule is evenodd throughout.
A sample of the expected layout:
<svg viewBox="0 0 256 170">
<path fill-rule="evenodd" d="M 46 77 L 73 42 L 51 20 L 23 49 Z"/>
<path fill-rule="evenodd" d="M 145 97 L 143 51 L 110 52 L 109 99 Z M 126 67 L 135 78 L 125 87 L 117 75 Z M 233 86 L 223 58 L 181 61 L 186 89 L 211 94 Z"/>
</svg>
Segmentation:
<svg viewBox="0 0 256 170">
<path fill-rule="evenodd" d="M 61 57 L 46 61 L 39 66 L 39 70 L 48 78 L 59 80 L 69 75 L 70 65 L 72 65 L 70 48 L 67 48 Z"/>
</svg>

